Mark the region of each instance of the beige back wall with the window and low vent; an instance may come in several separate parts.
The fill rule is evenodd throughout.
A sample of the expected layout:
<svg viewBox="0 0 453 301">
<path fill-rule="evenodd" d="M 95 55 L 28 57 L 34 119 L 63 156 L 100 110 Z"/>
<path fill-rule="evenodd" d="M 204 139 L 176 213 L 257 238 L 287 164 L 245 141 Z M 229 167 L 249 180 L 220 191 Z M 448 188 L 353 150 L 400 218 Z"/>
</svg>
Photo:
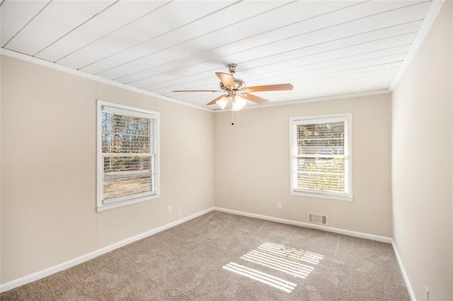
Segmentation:
<svg viewBox="0 0 453 301">
<path fill-rule="evenodd" d="M 352 113 L 353 194 L 350 201 L 289 195 L 289 118 Z M 214 114 L 215 206 L 391 237 L 391 99 L 374 95 Z M 277 210 L 277 202 L 282 209 Z"/>
</svg>

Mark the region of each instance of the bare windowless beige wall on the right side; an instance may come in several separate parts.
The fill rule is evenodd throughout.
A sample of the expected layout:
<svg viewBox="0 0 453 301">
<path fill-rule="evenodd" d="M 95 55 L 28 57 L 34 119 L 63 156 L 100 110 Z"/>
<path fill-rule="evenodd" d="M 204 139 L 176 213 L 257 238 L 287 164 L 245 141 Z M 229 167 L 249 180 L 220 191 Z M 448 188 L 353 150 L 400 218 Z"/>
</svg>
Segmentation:
<svg viewBox="0 0 453 301">
<path fill-rule="evenodd" d="M 452 20 L 447 1 L 392 95 L 394 240 L 417 300 L 453 300 Z"/>
</svg>

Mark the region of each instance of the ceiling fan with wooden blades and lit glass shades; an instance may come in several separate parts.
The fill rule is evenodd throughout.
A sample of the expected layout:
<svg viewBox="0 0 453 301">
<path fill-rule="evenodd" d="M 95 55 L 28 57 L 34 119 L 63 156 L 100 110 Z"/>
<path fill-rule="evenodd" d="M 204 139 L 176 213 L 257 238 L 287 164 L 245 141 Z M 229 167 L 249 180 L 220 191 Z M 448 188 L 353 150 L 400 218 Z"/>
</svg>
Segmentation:
<svg viewBox="0 0 453 301">
<path fill-rule="evenodd" d="M 231 100 L 231 110 L 239 111 L 246 106 L 247 100 L 263 104 L 269 102 L 264 98 L 260 98 L 256 95 L 250 94 L 250 92 L 263 92 L 263 91 L 277 91 L 277 90 L 292 90 L 293 86 L 290 83 L 280 83 L 277 85 L 255 85 L 246 87 L 246 83 L 239 79 L 234 78 L 234 73 L 238 70 L 237 64 L 226 65 L 229 73 L 216 72 L 215 74 L 220 79 L 221 90 L 173 90 L 173 92 L 222 92 L 224 95 L 220 95 L 218 98 L 208 102 L 206 105 L 217 104 L 222 110 L 228 105 Z"/>
</svg>

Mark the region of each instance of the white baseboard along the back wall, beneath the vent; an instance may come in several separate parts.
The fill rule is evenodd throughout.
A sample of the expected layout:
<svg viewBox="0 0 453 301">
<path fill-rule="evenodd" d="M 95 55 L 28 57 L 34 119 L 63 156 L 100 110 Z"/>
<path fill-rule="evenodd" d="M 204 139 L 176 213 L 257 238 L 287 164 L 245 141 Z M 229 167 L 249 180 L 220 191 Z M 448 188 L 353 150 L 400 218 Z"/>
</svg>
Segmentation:
<svg viewBox="0 0 453 301">
<path fill-rule="evenodd" d="M 274 218 L 273 216 L 261 216 L 260 214 L 236 211 L 236 210 L 231 210 L 231 209 L 226 209 L 226 208 L 221 208 L 221 207 L 214 207 L 214 210 L 225 212 L 225 213 L 232 213 L 232 214 L 236 214 L 239 216 L 248 216 L 249 218 L 259 218 L 260 220 L 270 220 L 272 222 L 277 222 L 277 223 L 297 225 L 297 226 L 305 227 L 305 228 L 312 228 L 312 229 L 323 230 L 323 231 L 328 231 L 328 232 L 335 232 L 338 234 L 365 238 L 367 240 L 375 240 L 377 242 L 386 242 L 389 244 L 391 244 L 391 242 L 392 242 L 391 237 L 386 237 L 386 236 L 379 236 L 379 235 L 367 234 L 367 233 L 362 233 L 362 232 L 355 232 L 355 231 L 350 231 L 350 230 L 331 228 L 331 227 L 326 227 L 323 225 L 314 225 L 311 223 L 298 222 L 297 220 L 286 220 L 285 218 Z"/>
</svg>

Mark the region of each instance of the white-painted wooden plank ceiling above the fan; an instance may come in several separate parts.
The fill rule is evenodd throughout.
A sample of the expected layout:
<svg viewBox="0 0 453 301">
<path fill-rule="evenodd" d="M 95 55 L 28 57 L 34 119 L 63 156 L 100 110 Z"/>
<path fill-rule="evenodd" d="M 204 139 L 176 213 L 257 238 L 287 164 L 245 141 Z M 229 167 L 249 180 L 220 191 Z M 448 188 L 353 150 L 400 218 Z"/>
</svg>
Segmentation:
<svg viewBox="0 0 453 301">
<path fill-rule="evenodd" d="M 1 2 L 1 47 L 205 106 L 214 72 L 271 103 L 388 90 L 432 1 Z M 252 104 L 249 104 L 252 105 Z"/>
</svg>

